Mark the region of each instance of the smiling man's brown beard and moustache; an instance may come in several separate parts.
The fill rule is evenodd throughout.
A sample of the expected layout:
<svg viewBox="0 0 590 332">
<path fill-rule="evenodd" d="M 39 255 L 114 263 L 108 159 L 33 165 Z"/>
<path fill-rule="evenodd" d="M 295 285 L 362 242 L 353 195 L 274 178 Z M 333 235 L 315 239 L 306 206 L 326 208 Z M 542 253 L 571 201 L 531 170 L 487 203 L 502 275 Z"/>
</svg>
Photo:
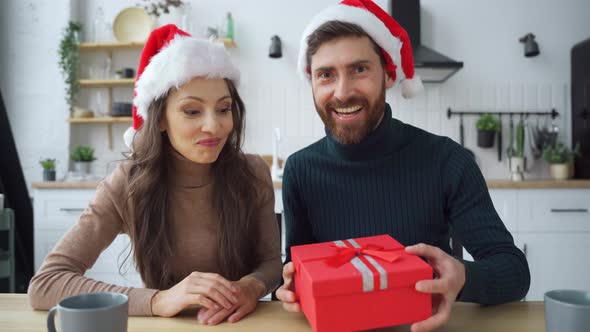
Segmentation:
<svg viewBox="0 0 590 332">
<path fill-rule="evenodd" d="M 326 108 L 318 105 L 314 97 L 314 104 L 330 136 L 340 144 L 357 144 L 372 133 L 383 118 L 385 112 L 385 82 L 383 82 L 379 97 L 372 104 L 364 97 L 351 97 L 346 101 L 332 100 L 326 103 Z M 363 107 L 362 112 L 366 112 L 364 119 L 350 124 L 338 125 L 333 115 L 330 114 L 335 108 L 346 108 L 355 105 Z"/>
</svg>

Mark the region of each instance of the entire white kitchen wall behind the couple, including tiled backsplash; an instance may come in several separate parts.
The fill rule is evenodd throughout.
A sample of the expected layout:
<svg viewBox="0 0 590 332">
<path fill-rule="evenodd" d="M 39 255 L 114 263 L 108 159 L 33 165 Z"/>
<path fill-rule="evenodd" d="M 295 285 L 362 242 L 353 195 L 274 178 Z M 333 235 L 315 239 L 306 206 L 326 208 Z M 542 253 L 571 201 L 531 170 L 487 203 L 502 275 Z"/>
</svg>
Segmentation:
<svg viewBox="0 0 590 332">
<path fill-rule="evenodd" d="M 99 152 L 96 172 L 106 172 L 109 160 L 119 159 L 123 150 L 121 135 L 125 125 L 116 125 L 114 151 L 106 148 L 106 126 L 68 126 L 63 102 L 63 85 L 56 67 L 55 50 L 59 30 L 65 26 L 67 10 L 53 13 L 55 7 L 68 7 L 68 1 L 40 2 L 35 6 L 38 20 L 47 21 L 43 28 L 34 28 L 30 10 L 23 10 L 31 1 L 8 5 L 5 15 L 8 25 L 0 31 L 3 41 L 9 40 L 14 47 L 8 55 L 1 53 L 2 69 L 8 68 L 0 88 L 8 99 L 9 116 L 19 145 L 19 153 L 25 164 L 29 181 L 40 177 L 36 161 L 51 151 L 66 164 L 63 148 L 67 144 L 89 143 Z M 231 11 L 236 26 L 238 47 L 231 49 L 243 72 L 240 91 L 247 105 L 248 122 L 245 150 L 256 153 L 271 152 L 271 130 L 280 127 L 283 132 L 281 154 L 286 156 L 324 135 L 323 126 L 313 108 L 307 83 L 299 81 L 296 74 L 296 57 L 300 33 L 307 21 L 319 10 L 333 4 L 333 0 L 253 2 L 239 0 L 195 1 L 192 3 L 193 34 L 208 25 L 218 24 L 225 12 Z M 58 5 L 55 5 L 57 3 Z M 121 9 L 134 6 L 135 0 L 87 0 L 74 6 L 74 17 L 91 25 L 98 6 L 105 10 L 111 20 Z M 387 7 L 388 1 L 378 3 Z M 4 5 L 6 7 L 6 5 Z M 3 12 L 5 12 L 3 10 Z M 425 93 L 412 101 L 404 101 L 398 91 L 388 93 L 388 101 L 394 107 L 394 116 L 402 121 L 448 135 L 458 140 L 456 118 L 446 118 L 447 107 L 475 110 L 522 110 L 548 109 L 555 107 L 562 116 L 556 120 L 562 136 L 569 141 L 570 113 L 570 63 L 571 47 L 590 37 L 590 21 L 585 17 L 590 12 L 590 2 L 585 0 L 422 0 L 422 41 L 431 48 L 464 62 L 464 68 L 442 85 L 428 85 Z M 18 20 L 18 21 L 17 21 Z M 173 13 L 160 23 L 179 22 Z M 18 24 L 17 24 L 18 22 Z M 30 26 L 31 25 L 31 26 Z M 9 28 L 10 27 L 10 28 Z M 15 39 L 13 30 L 21 29 L 27 38 Z M 8 32 L 11 32 L 10 35 Z M 522 35 L 533 32 L 541 48 L 541 55 L 525 58 L 523 46 L 518 42 Z M 268 57 L 270 38 L 277 34 L 283 42 L 283 58 Z M 40 55 L 31 49 L 46 45 Z M 6 45 L 6 44 L 5 44 Z M 122 54 L 115 59 L 115 67 L 135 64 L 138 52 Z M 84 61 L 95 61 L 86 58 Z M 21 75 L 21 66 L 45 64 L 39 82 L 31 82 Z M 22 68 L 22 67 L 21 67 Z M 5 72 L 4 70 L 2 71 Z M 24 80 L 24 81 L 23 81 Z M 10 84 L 7 84 L 10 82 Z M 52 82 L 48 84 L 48 82 Z M 7 87 L 10 86 L 10 87 Z M 20 87 L 17 89 L 16 87 Z M 26 89 L 21 89 L 26 87 Z M 26 98 L 20 98 L 26 90 Z M 5 92 L 7 91 L 7 92 Z M 46 96 L 43 102 L 30 98 L 30 91 Z M 81 102 L 88 102 L 90 91 L 84 92 Z M 131 100 L 131 89 L 118 91 L 116 99 Z M 47 107 L 50 105 L 52 107 Z M 43 121 L 31 128 L 33 114 L 43 109 Z M 27 113 L 28 112 L 28 113 Z M 38 120 L 36 120 L 38 121 Z M 496 150 L 481 150 L 475 147 L 473 118 L 466 119 L 466 145 L 477 154 L 484 174 L 489 178 L 507 178 L 505 164 L 498 163 Z M 504 120 L 507 128 L 507 120 Z M 71 128 L 71 140 L 67 138 Z M 38 132 L 54 132 L 45 137 L 47 144 L 39 147 L 31 144 Z M 507 130 L 504 131 L 507 142 Z M 59 146 L 49 150 L 49 146 Z M 545 165 L 537 161 L 529 178 L 547 176 Z"/>
</svg>

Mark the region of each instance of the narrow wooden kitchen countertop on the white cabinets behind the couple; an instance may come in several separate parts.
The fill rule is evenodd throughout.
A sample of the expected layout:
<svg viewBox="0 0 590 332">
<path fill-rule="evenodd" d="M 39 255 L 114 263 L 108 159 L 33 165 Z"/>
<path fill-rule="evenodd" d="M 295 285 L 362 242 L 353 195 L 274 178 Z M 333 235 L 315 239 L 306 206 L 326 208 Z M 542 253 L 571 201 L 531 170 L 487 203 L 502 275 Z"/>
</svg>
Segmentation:
<svg viewBox="0 0 590 332">
<path fill-rule="evenodd" d="M 50 181 L 50 182 L 33 182 L 32 186 L 36 189 L 94 189 L 98 186 L 99 181 Z M 589 188 L 590 180 L 525 180 L 514 182 L 510 180 L 487 180 L 490 189 L 558 189 L 558 188 Z M 282 181 L 273 182 L 275 189 L 282 188 Z"/>
</svg>

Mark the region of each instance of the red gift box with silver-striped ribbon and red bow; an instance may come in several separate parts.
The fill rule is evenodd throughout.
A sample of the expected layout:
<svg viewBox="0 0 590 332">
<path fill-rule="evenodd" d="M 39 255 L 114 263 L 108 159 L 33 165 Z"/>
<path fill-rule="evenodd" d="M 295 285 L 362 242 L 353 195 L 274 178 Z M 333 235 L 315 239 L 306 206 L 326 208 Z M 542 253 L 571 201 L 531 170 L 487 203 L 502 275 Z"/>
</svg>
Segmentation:
<svg viewBox="0 0 590 332">
<path fill-rule="evenodd" d="M 408 324 L 432 315 L 416 291 L 432 267 L 389 235 L 294 246 L 295 292 L 316 332 Z"/>
</svg>

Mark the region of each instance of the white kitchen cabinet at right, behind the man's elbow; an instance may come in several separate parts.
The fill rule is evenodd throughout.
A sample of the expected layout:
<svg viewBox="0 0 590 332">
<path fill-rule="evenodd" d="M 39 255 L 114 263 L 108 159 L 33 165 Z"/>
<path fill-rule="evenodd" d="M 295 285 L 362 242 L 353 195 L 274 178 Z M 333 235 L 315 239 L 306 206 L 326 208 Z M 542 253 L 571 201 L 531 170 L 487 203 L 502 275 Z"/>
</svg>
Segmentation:
<svg viewBox="0 0 590 332">
<path fill-rule="evenodd" d="M 542 301 L 552 289 L 590 290 L 590 189 L 491 189 L 490 195 L 527 257 L 527 301 Z"/>
</svg>

